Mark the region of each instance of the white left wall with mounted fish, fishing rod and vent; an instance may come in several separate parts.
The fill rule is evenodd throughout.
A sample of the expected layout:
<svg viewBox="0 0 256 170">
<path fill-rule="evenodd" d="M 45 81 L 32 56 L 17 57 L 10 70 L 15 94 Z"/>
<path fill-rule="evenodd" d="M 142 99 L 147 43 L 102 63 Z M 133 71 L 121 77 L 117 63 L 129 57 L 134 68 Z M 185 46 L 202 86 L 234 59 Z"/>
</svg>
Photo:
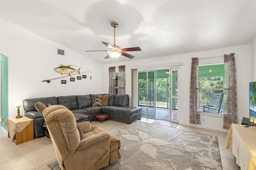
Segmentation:
<svg viewBox="0 0 256 170">
<path fill-rule="evenodd" d="M 104 93 L 102 87 L 103 65 L 70 49 L 46 40 L 23 28 L 1 19 L 0 53 L 8 57 L 9 117 L 17 115 L 14 101 L 36 97 L 86 95 Z M 65 49 L 65 56 L 57 55 L 57 48 Z M 74 69 L 81 67 L 86 79 L 70 81 L 70 77 L 41 82 L 62 75 L 53 69 L 63 65 Z M 90 75 L 92 79 L 90 80 Z M 78 75 L 75 75 L 76 77 Z M 67 84 L 61 84 L 66 80 Z M 20 114 L 24 115 L 23 108 Z"/>
</svg>

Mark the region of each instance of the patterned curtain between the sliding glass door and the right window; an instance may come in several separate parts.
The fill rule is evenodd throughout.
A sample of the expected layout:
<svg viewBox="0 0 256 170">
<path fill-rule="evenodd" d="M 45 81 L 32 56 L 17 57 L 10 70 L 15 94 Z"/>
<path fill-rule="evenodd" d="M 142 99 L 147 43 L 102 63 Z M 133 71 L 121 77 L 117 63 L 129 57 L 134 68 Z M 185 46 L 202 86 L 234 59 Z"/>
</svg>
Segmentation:
<svg viewBox="0 0 256 170">
<path fill-rule="evenodd" d="M 198 91 L 198 57 L 192 58 L 190 75 L 190 95 L 189 95 L 189 123 L 200 125 L 200 114 L 197 103 L 199 100 Z"/>
</svg>

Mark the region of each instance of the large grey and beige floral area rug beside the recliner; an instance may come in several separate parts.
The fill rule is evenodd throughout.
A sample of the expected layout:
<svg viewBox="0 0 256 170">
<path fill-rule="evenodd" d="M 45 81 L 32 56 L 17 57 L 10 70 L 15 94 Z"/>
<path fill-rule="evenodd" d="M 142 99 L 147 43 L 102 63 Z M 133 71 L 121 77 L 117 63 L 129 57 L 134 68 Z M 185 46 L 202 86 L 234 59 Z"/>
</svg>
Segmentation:
<svg viewBox="0 0 256 170">
<path fill-rule="evenodd" d="M 217 136 L 140 121 L 113 135 L 121 158 L 103 170 L 222 170 Z"/>
</svg>

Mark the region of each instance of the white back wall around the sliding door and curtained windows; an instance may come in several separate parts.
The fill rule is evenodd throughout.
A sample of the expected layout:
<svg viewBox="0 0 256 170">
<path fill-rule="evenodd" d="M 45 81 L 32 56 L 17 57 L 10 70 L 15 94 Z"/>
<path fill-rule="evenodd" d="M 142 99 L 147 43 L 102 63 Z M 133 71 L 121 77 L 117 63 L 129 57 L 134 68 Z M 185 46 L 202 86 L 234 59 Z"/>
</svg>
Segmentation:
<svg viewBox="0 0 256 170">
<path fill-rule="evenodd" d="M 142 49 L 143 50 L 143 49 Z M 171 50 L 171 49 L 170 49 Z M 225 131 L 223 127 L 223 117 L 214 117 L 201 115 L 205 122 L 201 121 L 201 125 L 189 124 L 189 86 L 190 86 L 190 70 L 191 58 L 198 57 L 199 64 L 203 63 L 224 63 L 223 55 L 235 53 L 237 67 L 237 87 L 238 87 L 238 123 L 241 123 L 242 117 L 248 117 L 248 82 L 250 81 L 250 59 L 251 46 L 242 45 L 236 47 L 228 47 L 222 49 L 214 49 L 209 51 L 199 51 L 194 53 L 185 53 L 179 55 L 171 55 L 166 57 L 158 57 L 144 60 L 131 60 L 128 62 L 118 63 L 116 59 L 116 67 L 118 65 L 126 65 L 126 94 L 131 98 L 131 70 L 130 67 L 143 65 L 157 65 L 166 63 L 182 62 L 179 66 L 179 123 L 184 125 L 210 128 L 213 130 Z M 121 56 L 122 57 L 122 56 Z M 212 57 L 212 58 L 211 58 Z M 113 64 L 104 65 L 104 90 L 108 91 L 108 67 L 115 66 Z M 131 100 L 129 105 L 132 105 Z"/>
</svg>

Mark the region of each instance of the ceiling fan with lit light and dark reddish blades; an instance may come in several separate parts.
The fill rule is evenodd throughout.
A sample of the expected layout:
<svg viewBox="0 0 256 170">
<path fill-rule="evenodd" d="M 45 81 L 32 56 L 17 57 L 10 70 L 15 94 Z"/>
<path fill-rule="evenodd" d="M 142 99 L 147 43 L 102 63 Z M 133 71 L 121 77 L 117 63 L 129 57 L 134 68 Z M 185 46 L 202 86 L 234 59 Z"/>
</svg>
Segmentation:
<svg viewBox="0 0 256 170">
<path fill-rule="evenodd" d="M 92 50 L 92 51 L 108 51 L 108 55 L 106 58 L 118 58 L 120 55 L 123 55 L 125 57 L 128 57 L 130 59 L 134 58 L 135 56 L 130 55 L 128 53 L 125 53 L 126 51 L 141 51 L 140 47 L 131 47 L 131 48 L 120 48 L 118 45 L 116 45 L 116 28 L 118 28 L 117 22 L 112 22 L 111 26 L 114 27 L 114 45 L 111 45 L 110 43 L 102 42 L 104 45 L 108 47 L 108 50 Z M 88 52 L 88 51 L 86 51 Z"/>
</svg>

